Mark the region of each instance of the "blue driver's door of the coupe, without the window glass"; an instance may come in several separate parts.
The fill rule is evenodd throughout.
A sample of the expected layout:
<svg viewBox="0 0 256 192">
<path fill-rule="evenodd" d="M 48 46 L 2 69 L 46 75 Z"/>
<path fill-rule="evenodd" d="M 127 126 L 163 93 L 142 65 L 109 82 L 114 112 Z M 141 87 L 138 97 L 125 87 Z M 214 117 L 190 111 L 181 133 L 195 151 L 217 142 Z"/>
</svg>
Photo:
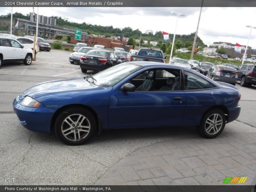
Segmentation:
<svg viewBox="0 0 256 192">
<path fill-rule="evenodd" d="M 141 72 L 141 74 L 143 73 L 144 71 Z M 139 75 L 137 74 L 136 77 Z M 186 108 L 186 97 L 183 90 L 121 91 L 120 88 L 130 81 L 132 79 L 113 87 L 108 105 L 109 127 L 148 127 L 181 124 Z"/>
</svg>

